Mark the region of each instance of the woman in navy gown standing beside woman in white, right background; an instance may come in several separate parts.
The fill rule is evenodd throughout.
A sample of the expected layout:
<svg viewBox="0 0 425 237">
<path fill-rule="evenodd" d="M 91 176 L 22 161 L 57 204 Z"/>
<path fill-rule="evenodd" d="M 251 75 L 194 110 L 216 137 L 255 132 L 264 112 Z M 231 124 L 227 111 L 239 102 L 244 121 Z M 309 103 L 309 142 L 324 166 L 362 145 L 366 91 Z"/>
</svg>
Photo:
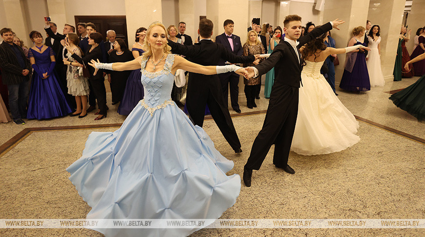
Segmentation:
<svg viewBox="0 0 425 237">
<path fill-rule="evenodd" d="M 354 37 L 348 42 L 348 46 L 361 44 L 367 47 L 364 42 L 364 31 L 366 29 L 358 26 L 353 29 Z M 369 91 L 370 79 L 367 71 L 366 56 L 364 51 L 358 49 L 347 54 L 345 59 L 345 69 L 342 74 L 340 88 L 346 91 Z"/>
</svg>

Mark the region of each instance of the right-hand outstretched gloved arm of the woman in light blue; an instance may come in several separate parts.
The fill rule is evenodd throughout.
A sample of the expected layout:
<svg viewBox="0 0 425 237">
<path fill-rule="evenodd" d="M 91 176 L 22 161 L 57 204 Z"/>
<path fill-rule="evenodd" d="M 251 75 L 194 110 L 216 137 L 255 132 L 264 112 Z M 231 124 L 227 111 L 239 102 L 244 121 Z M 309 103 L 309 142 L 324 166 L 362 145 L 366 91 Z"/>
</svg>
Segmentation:
<svg viewBox="0 0 425 237">
<path fill-rule="evenodd" d="M 246 70 L 242 67 L 237 67 L 235 65 L 227 66 L 203 66 L 191 61 L 188 61 L 180 56 L 175 56 L 174 64 L 172 66 L 171 72 L 175 73 L 177 69 L 183 69 L 185 71 L 199 73 L 204 75 L 214 75 L 218 73 L 225 73 L 234 71 L 235 73 L 245 76 L 247 74 Z"/>
</svg>

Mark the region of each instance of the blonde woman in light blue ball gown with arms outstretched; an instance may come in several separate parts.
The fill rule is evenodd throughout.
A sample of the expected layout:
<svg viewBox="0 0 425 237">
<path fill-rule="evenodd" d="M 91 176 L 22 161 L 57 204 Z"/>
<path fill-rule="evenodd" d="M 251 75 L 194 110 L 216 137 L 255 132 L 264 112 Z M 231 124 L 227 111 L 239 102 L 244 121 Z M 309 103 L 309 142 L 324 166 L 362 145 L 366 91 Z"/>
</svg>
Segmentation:
<svg viewBox="0 0 425 237">
<path fill-rule="evenodd" d="M 147 51 L 129 62 L 98 63 L 116 71 L 142 68 L 145 98 L 115 132 L 92 132 L 83 156 L 67 168 L 78 193 L 92 207 L 87 219 L 216 219 L 240 192 L 224 158 L 205 131 L 171 100 L 177 69 L 212 75 L 245 69 L 201 66 L 170 54 L 163 24 L 149 26 Z M 206 223 L 208 225 L 209 223 Z M 93 228 L 106 236 L 187 236 L 202 227 Z"/>
</svg>

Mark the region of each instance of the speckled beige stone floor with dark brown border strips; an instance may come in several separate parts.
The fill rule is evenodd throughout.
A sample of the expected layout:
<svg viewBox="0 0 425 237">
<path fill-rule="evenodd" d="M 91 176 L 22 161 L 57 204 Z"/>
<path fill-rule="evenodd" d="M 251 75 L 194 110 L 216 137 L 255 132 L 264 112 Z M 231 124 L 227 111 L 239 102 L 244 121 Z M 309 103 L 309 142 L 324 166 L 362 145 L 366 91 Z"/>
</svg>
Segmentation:
<svg viewBox="0 0 425 237">
<path fill-rule="evenodd" d="M 361 141 L 329 155 L 291 152 L 289 164 L 295 175 L 275 168 L 272 147 L 261 169 L 254 171 L 253 186 L 242 184 L 236 203 L 221 218 L 424 219 L 425 123 L 388 99 L 389 91 L 405 88 L 417 79 L 387 82 L 360 94 L 338 91 L 339 99 L 360 121 Z M 241 101 L 242 114 L 231 111 L 242 154 L 234 154 L 212 119 L 204 123 L 217 150 L 234 161 L 229 175 L 242 175 L 261 129 L 268 100 L 261 96 L 257 104 L 251 110 Z M 0 150 L 0 218 L 85 218 L 90 207 L 78 196 L 65 168 L 79 158 L 90 132 L 114 131 L 124 121 L 124 116 L 115 113 L 117 105 L 108 106 L 108 117 L 100 121 L 94 121 L 91 113 L 84 119 L 0 124 L 0 145 L 9 144 Z M 256 113 L 249 113 L 253 111 Z M 93 127 L 99 124 L 105 127 Z M 57 130 L 32 129 L 39 127 Z M 25 135 L 20 134 L 25 128 Z M 85 229 L 0 229 L 0 236 L 102 235 Z M 191 236 L 425 236 L 425 230 L 203 229 Z"/>
</svg>

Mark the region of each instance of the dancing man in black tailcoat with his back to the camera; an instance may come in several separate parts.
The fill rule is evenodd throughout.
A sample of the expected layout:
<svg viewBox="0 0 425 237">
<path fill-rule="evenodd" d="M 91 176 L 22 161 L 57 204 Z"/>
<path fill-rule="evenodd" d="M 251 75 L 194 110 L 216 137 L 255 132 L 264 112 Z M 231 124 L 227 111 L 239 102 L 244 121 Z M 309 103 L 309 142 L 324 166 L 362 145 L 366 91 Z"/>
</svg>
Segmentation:
<svg viewBox="0 0 425 237">
<path fill-rule="evenodd" d="M 168 44 L 171 46 L 171 52 L 187 56 L 192 62 L 204 66 L 217 65 L 221 59 L 234 63 L 247 63 L 255 60 L 255 56 L 253 55 L 236 56 L 224 48 L 223 45 L 212 42 L 210 39 L 212 28 L 213 24 L 211 20 L 200 20 L 198 29 L 200 41 L 194 45 L 186 46 L 168 40 Z M 232 118 L 227 108 L 227 103 L 223 99 L 218 76 L 189 73 L 186 105 L 193 123 L 200 127 L 204 123 L 206 104 L 208 104 L 212 119 L 214 119 L 234 152 L 242 152 L 239 138 L 237 137 Z"/>
</svg>

